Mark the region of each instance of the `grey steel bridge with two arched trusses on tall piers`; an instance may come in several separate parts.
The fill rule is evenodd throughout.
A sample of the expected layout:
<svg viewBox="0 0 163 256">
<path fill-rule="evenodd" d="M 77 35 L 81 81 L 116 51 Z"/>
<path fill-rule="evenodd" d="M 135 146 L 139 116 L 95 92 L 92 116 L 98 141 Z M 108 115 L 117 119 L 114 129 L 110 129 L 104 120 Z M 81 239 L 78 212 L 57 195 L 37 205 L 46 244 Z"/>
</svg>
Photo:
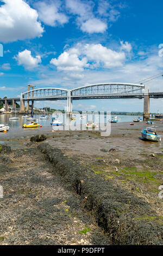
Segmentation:
<svg viewBox="0 0 163 256">
<path fill-rule="evenodd" d="M 144 113 L 149 112 L 149 98 L 163 97 L 163 93 L 149 93 L 147 84 L 133 83 L 99 83 L 88 84 L 86 86 L 74 88 L 71 90 L 62 88 L 39 88 L 28 90 L 21 94 L 20 98 L 6 99 L 5 102 L 21 102 L 21 112 L 24 112 L 24 104 L 29 101 L 40 100 L 67 100 L 67 112 L 72 112 L 73 100 L 84 99 L 144 99 Z"/>
</svg>

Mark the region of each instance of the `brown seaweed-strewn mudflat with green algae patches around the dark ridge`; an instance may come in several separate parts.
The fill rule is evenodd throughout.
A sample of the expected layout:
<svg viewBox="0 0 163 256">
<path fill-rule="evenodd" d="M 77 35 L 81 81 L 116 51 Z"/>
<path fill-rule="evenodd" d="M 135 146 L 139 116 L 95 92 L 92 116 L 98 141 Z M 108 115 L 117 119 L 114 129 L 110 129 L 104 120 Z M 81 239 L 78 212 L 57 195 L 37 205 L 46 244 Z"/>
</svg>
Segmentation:
<svg viewBox="0 0 163 256">
<path fill-rule="evenodd" d="M 0 243 L 106 245 L 137 241 L 139 244 L 160 244 L 163 199 L 159 198 L 159 186 L 163 184 L 163 144 L 141 139 L 142 127 L 147 126 L 143 122 L 134 126 L 112 124 L 109 137 L 101 137 L 98 131 L 52 132 L 51 127 L 23 131 L 21 137 L 20 133 L 15 137 L 6 133 L 3 144 L 10 145 L 12 152 L 7 154 L 11 161 L 1 158 L 0 185 L 4 188 L 4 198 L 0 199 Z M 154 126 L 162 136 L 163 124 L 155 122 Z M 121 226 L 123 217 L 123 222 L 128 221 L 130 227 L 145 227 L 145 237 L 153 225 L 153 239 L 139 240 L 139 235 L 135 240 L 134 235 L 132 240 L 126 239 L 127 227 L 122 225 L 123 239 L 120 240 L 113 231 L 99 224 L 92 209 L 85 206 L 87 196 L 83 198 L 71 191 L 71 184 L 65 185 L 64 178 L 54 172 L 53 164 L 37 149 L 42 142 L 30 143 L 30 137 L 36 134 L 46 135 L 43 143 L 61 150 L 72 163 L 85 170 L 89 168 L 93 173 L 91 179 L 104 182 L 108 193 L 105 203 L 115 204 L 112 206 L 112 216 L 116 220 L 116 224 L 112 223 L 113 228 Z M 1 154 L 6 156 L 6 153 Z M 102 197 L 99 190 L 98 195 Z"/>
</svg>

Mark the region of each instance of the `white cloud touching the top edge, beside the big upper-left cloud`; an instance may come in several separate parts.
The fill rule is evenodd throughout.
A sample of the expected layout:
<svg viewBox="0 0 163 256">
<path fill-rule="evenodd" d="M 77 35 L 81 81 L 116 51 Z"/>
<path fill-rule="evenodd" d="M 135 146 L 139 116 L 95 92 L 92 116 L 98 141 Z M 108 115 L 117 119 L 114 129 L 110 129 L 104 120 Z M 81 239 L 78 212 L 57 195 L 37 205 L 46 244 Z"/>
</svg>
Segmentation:
<svg viewBox="0 0 163 256">
<path fill-rule="evenodd" d="M 55 1 L 54 3 L 47 4 L 45 2 L 37 2 L 35 4 L 39 19 L 46 25 L 55 27 L 58 24 L 64 25 L 68 22 L 68 17 L 59 11 L 60 3 Z"/>
</svg>

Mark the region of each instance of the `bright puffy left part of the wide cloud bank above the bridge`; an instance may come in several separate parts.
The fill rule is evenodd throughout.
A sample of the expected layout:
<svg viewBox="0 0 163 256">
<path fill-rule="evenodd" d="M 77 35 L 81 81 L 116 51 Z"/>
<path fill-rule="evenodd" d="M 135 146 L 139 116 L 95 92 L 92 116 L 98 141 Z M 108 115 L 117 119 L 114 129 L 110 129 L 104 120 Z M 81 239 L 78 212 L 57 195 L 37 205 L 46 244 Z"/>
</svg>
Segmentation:
<svg viewBox="0 0 163 256">
<path fill-rule="evenodd" d="M 76 52 L 76 49 L 74 49 Z M 73 52 L 73 49 L 70 52 L 63 52 L 60 56 L 51 60 L 51 64 L 57 66 L 58 70 L 64 71 L 83 71 L 84 67 L 87 67 L 87 59 L 79 59 L 78 54 Z"/>
</svg>

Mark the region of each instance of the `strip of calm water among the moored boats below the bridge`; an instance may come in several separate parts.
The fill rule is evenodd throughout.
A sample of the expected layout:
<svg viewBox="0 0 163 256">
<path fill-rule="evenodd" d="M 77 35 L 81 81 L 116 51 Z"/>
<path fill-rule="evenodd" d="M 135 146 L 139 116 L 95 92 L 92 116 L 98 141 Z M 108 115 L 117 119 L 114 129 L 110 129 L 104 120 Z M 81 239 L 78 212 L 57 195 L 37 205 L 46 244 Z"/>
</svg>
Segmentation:
<svg viewBox="0 0 163 256">
<path fill-rule="evenodd" d="M 16 128 L 16 127 L 22 127 L 23 124 L 28 124 L 30 123 L 30 121 L 27 121 L 26 118 L 22 118 L 23 115 L 17 115 L 18 118 L 20 118 L 19 120 L 9 120 L 9 118 L 11 117 L 15 117 L 15 114 L 1 114 L 0 115 L 0 123 L 1 124 L 9 124 L 10 126 L 10 129 L 12 128 Z M 52 114 L 49 115 L 49 119 L 46 119 L 46 120 L 41 120 L 40 119 L 40 116 L 39 114 L 35 114 L 34 117 L 36 118 L 36 122 L 39 123 L 40 125 L 42 125 L 42 127 L 46 127 L 46 126 L 51 126 L 51 123 L 52 123 Z M 88 120 L 93 120 L 95 123 L 105 123 L 106 121 L 106 118 L 97 118 L 98 115 L 88 115 L 87 118 L 84 118 L 84 119 L 80 119 L 80 116 L 77 116 L 76 117 L 76 123 L 79 124 L 79 123 L 83 123 L 83 124 L 86 124 Z M 114 118 L 116 117 L 116 115 L 111 115 L 111 118 Z M 141 119 L 143 118 L 141 115 L 139 116 L 136 116 L 136 115 L 117 115 L 118 119 L 120 118 L 120 120 L 118 120 L 119 122 L 130 122 L 132 121 L 134 118 L 138 118 L 140 117 Z M 62 121 L 62 123 L 66 123 L 65 121 L 65 118 L 64 118 L 64 115 L 59 115 L 58 116 L 58 119 L 60 119 Z M 108 120 L 108 118 L 107 118 Z M 72 121 L 72 123 L 75 122 L 75 121 Z"/>
</svg>

